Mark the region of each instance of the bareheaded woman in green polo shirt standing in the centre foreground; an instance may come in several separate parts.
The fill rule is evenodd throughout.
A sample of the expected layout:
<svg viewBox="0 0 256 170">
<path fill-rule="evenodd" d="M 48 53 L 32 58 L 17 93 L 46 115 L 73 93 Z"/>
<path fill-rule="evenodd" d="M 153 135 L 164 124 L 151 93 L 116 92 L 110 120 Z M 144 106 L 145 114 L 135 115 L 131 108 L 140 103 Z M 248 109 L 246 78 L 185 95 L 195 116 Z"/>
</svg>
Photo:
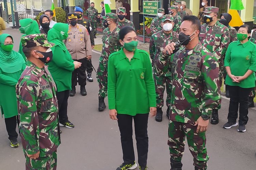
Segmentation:
<svg viewBox="0 0 256 170">
<path fill-rule="evenodd" d="M 137 49 L 138 39 L 132 27 L 119 32 L 119 41 L 124 47 L 109 56 L 108 99 L 110 118 L 117 120 L 123 149 L 124 163 L 116 170 L 135 169 L 132 142 L 132 119 L 140 169 L 147 169 L 148 113 L 156 115 L 156 93 L 152 66 L 148 53 Z"/>
</svg>

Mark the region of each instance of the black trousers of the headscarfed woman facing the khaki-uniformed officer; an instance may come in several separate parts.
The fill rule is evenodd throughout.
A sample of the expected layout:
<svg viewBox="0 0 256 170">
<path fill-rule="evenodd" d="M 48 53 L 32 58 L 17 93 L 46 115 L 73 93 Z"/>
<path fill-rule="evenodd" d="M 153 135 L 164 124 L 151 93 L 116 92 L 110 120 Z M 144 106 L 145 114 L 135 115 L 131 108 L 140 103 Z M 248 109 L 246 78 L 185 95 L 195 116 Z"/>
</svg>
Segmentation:
<svg viewBox="0 0 256 170">
<path fill-rule="evenodd" d="M 60 91 L 56 93 L 58 99 L 59 109 L 59 122 L 65 123 L 69 120 L 68 118 L 68 98 L 70 90 Z"/>
</svg>

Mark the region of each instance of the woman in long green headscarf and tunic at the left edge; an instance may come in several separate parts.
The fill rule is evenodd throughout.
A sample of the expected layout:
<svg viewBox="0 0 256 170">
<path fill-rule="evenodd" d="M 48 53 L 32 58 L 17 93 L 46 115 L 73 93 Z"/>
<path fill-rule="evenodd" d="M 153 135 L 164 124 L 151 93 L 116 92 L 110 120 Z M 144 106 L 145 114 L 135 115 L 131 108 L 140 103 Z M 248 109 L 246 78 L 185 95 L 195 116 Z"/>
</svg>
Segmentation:
<svg viewBox="0 0 256 170">
<path fill-rule="evenodd" d="M 16 123 L 19 124 L 19 119 L 15 86 L 26 64 L 22 55 L 12 49 L 12 36 L 0 35 L 0 107 L 11 147 L 17 148 L 19 142 L 17 141 Z"/>
</svg>

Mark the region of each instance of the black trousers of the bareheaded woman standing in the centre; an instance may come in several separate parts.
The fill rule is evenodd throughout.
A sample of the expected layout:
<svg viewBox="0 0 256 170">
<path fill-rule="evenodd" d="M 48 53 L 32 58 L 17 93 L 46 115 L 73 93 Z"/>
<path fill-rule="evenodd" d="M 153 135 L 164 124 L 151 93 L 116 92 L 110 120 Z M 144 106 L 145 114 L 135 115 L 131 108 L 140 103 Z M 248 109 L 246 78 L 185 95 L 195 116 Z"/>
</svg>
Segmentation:
<svg viewBox="0 0 256 170">
<path fill-rule="evenodd" d="M 124 163 L 133 164 L 135 161 L 132 141 L 132 119 L 134 120 L 135 138 L 138 151 L 138 163 L 140 166 L 147 165 L 148 136 L 147 121 L 148 114 L 137 114 L 136 116 L 117 114 L 118 126 L 121 136 Z"/>
</svg>

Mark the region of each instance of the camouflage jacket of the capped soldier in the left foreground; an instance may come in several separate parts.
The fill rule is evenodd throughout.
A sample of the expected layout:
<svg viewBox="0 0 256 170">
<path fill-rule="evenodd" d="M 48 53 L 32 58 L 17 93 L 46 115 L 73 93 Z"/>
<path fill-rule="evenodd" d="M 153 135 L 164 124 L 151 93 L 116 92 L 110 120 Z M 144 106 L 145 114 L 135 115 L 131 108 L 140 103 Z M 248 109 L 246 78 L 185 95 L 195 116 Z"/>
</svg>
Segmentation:
<svg viewBox="0 0 256 170">
<path fill-rule="evenodd" d="M 17 85 L 19 130 L 25 154 L 45 157 L 60 145 L 56 85 L 48 66 L 40 69 L 30 61 Z"/>
</svg>

